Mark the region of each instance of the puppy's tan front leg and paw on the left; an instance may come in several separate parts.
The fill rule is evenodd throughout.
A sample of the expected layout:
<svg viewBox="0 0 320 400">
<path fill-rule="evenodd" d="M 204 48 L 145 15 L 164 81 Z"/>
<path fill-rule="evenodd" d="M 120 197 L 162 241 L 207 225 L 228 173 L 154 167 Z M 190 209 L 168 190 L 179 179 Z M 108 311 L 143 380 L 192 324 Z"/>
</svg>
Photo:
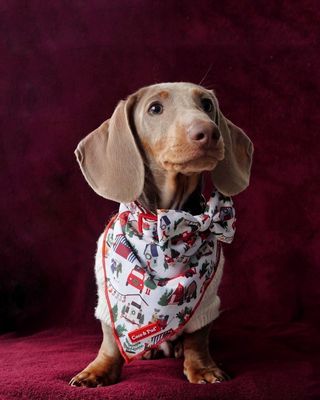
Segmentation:
<svg viewBox="0 0 320 400">
<path fill-rule="evenodd" d="M 71 386 L 107 386 L 116 383 L 121 374 L 123 357 L 112 335 L 110 327 L 103 322 L 103 340 L 97 357 L 78 375 L 74 376 Z"/>
</svg>

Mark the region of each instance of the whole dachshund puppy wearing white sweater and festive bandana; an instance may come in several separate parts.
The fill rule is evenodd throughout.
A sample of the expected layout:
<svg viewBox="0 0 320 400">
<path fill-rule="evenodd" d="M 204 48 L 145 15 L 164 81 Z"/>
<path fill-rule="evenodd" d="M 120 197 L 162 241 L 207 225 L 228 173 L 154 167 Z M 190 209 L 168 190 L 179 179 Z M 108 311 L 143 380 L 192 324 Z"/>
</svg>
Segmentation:
<svg viewBox="0 0 320 400">
<path fill-rule="evenodd" d="M 249 185 L 251 140 L 224 117 L 212 90 L 161 83 L 120 101 L 75 154 L 93 190 L 121 205 L 96 254 L 102 344 L 70 385 L 114 384 L 124 361 L 150 357 L 155 349 L 183 354 L 191 383 L 228 379 L 211 358 L 208 338 L 219 315 L 219 240 L 232 240 L 229 196 Z M 205 171 L 216 190 L 207 204 L 201 193 Z M 178 233 L 169 237 L 172 232 Z M 156 299 L 152 306 L 150 296 Z"/>
</svg>

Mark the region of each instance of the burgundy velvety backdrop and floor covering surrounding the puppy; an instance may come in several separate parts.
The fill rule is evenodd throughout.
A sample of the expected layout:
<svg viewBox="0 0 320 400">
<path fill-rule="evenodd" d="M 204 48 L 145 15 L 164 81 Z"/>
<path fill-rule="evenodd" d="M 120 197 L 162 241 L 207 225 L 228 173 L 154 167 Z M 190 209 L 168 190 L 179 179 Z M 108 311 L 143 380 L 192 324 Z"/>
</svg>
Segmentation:
<svg viewBox="0 0 320 400">
<path fill-rule="evenodd" d="M 32 0 L 0 11 L 0 330 L 18 335 L 0 339 L 3 398 L 320 398 L 317 2 Z M 73 150 L 137 88 L 203 78 L 255 144 L 213 332 L 233 380 L 193 386 L 180 361 L 160 360 L 126 366 L 111 388 L 69 388 L 98 347 L 93 256 L 117 208 L 88 187 Z"/>
</svg>

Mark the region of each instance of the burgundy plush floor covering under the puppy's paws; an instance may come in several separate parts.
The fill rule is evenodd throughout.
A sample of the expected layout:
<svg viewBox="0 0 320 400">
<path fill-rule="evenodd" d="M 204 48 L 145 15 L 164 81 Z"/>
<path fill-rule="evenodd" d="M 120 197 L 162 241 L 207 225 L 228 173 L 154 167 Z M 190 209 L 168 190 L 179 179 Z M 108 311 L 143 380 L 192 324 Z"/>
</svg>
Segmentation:
<svg viewBox="0 0 320 400">
<path fill-rule="evenodd" d="M 137 361 L 126 365 L 110 387 L 68 386 L 91 361 L 99 335 L 49 330 L 0 341 L 2 399 L 320 399 L 320 352 L 316 331 L 305 325 L 268 332 L 214 332 L 213 353 L 232 376 L 213 385 L 189 384 L 181 360 Z M 318 371 L 317 371 L 318 370 Z"/>
</svg>

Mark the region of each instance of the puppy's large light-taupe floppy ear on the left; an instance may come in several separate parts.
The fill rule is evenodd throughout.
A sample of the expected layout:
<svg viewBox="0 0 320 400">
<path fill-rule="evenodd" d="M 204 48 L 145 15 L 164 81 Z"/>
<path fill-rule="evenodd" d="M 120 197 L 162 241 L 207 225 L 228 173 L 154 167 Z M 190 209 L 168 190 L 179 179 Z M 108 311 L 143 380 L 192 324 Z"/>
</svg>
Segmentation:
<svg viewBox="0 0 320 400">
<path fill-rule="evenodd" d="M 75 150 L 92 189 L 119 203 L 136 200 L 143 190 L 144 165 L 131 130 L 135 96 L 122 100 L 112 117 L 86 136 Z"/>
</svg>

